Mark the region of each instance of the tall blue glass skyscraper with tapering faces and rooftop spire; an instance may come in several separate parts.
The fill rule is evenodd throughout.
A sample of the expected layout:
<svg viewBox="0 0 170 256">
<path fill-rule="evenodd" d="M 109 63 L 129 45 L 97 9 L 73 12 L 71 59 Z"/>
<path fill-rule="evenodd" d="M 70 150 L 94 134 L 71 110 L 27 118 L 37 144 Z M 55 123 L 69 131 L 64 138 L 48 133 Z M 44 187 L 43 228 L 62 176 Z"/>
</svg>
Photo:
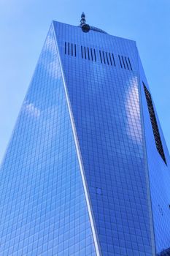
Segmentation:
<svg viewBox="0 0 170 256">
<path fill-rule="evenodd" d="M 136 42 L 53 21 L 1 164 L 0 255 L 169 255 L 169 164 Z"/>
</svg>

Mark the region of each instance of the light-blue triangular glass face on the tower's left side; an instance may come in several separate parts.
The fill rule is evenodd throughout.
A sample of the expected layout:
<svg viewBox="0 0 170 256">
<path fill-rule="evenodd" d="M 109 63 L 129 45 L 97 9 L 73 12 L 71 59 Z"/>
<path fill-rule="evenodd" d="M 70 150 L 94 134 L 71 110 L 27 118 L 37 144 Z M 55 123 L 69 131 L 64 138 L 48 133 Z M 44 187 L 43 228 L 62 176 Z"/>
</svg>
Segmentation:
<svg viewBox="0 0 170 256">
<path fill-rule="evenodd" d="M 0 181 L 0 255 L 96 255 L 53 27 Z"/>
</svg>

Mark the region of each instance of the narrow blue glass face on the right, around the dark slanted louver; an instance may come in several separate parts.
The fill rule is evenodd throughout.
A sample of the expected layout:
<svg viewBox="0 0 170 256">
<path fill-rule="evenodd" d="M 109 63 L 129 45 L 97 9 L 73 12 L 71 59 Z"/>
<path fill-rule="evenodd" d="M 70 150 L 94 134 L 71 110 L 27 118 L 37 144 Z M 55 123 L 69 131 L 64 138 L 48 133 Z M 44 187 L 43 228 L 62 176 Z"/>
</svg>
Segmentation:
<svg viewBox="0 0 170 256">
<path fill-rule="evenodd" d="M 142 63 L 139 59 L 139 72 L 141 80 L 149 89 L 147 79 L 144 75 Z M 147 109 L 147 102 L 144 96 L 144 88 L 141 83 L 142 91 L 142 105 L 144 116 L 144 132 L 147 147 L 147 165 L 150 176 L 150 192 L 152 201 L 152 216 L 155 227 L 155 244 L 157 252 L 162 252 L 163 249 L 170 247 L 170 172 L 169 172 L 169 151 L 166 147 L 166 142 L 163 138 L 161 125 L 159 124 L 158 116 L 158 129 L 161 135 L 161 142 L 163 144 L 163 151 L 166 156 L 166 162 L 160 157 L 157 148 L 155 147 L 155 139 L 152 132 L 150 123 L 150 116 Z M 156 110 L 155 110 L 156 113 Z"/>
</svg>

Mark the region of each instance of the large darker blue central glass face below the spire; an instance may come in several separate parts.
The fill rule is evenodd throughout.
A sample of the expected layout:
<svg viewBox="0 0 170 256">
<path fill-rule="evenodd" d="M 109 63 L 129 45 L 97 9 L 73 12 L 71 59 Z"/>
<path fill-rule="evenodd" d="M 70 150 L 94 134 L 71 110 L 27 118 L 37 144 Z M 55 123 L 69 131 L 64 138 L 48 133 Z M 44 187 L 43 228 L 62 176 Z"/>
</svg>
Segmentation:
<svg viewBox="0 0 170 256">
<path fill-rule="evenodd" d="M 94 31 L 85 34 L 62 23 L 54 25 L 102 255 L 151 256 L 136 45 Z M 64 42 L 95 48 L 102 64 L 109 57 L 105 53 L 114 49 L 116 63 L 120 53 L 134 60 L 134 68 L 127 72 L 128 59 L 126 69 L 87 61 L 82 58 L 83 47 L 77 58 L 69 58 Z"/>
</svg>

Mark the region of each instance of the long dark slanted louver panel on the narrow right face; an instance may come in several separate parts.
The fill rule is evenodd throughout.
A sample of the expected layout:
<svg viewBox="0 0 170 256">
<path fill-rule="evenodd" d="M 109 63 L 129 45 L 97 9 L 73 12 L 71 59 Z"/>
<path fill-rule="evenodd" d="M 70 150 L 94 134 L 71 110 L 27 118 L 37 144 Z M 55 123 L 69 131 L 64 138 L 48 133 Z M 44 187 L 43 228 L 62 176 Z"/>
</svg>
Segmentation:
<svg viewBox="0 0 170 256">
<path fill-rule="evenodd" d="M 151 121 L 151 124 L 152 124 L 153 135 L 155 137 L 156 148 L 157 148 L 159 154 L 161 155 L 163 161 L 166 163 L 166 157 L 165 157 L 165 154 L 164 154 L 164 151 L 163 151 L 161 136 L 160 136 L 159 129 L 158 129 L 158 124 L 157 124 L 157 121 L 156 121 L 155 111 L 154 111 L 154 108 L 153 108 L 153 105 L 152 105 L 152 97 L 150 95 L 150 91 L 147 90 L 147 87 L 144 85 L 144 83 L 143 83 L 143 86 L 144 86 L 144 93 L 145 93 L 145 96 L 146 96 L 146 99 L 147 99 L 147 107 L 148 107 L 148 110 L 149 110 L 149 113 L 150 113 L 150 121 Z"/>
</svg>

